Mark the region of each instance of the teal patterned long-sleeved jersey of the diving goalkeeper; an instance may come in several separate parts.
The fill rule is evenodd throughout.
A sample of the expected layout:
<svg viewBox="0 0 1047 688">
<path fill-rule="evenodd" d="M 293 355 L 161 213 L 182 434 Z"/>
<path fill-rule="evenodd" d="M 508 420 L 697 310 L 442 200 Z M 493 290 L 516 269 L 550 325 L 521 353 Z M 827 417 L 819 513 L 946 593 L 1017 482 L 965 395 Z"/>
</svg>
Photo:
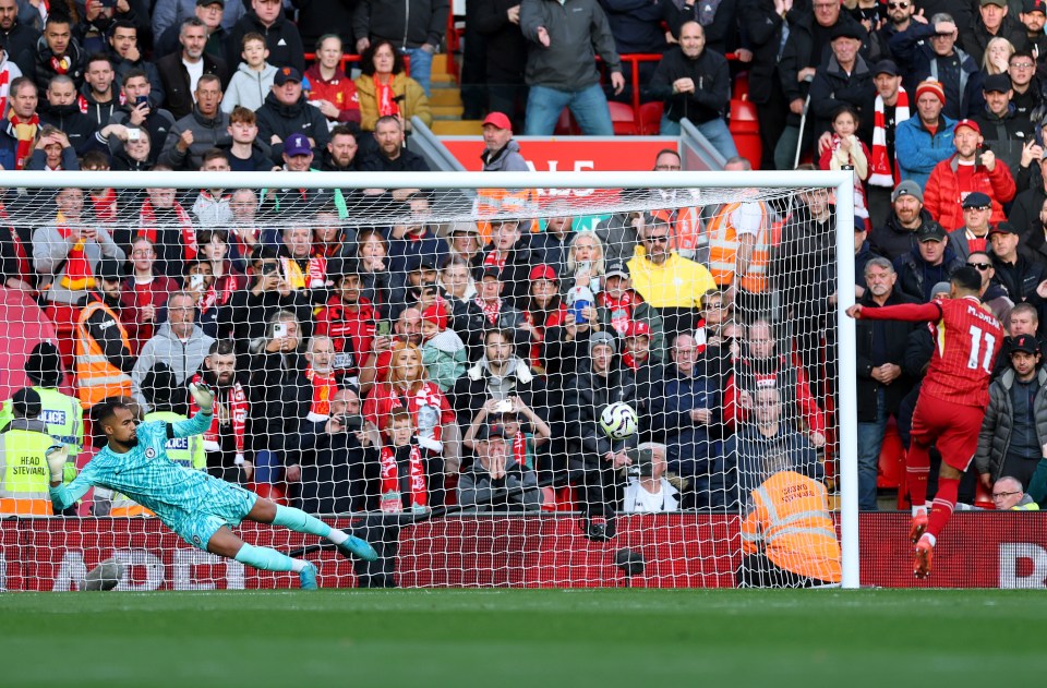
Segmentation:
<svg viewBox="0 0 1047 688">
<path fill-rule="evenodd" d="M 69 485 L 50 488 L 56 509 L 63 509 L 101 486 L 125 494 L 174 527 L 189 514 L 206 509 L 212 495 L 227 483 L 205 471 L 182 467 L 168 458 L 167 429 L 174 437 L 198 435 L 210 426 L 210 414 L 197 413 L 178 423 L 151 422 L 139 425 L 139 444 L 127 454 L 103 448 Z"/>
</svg>

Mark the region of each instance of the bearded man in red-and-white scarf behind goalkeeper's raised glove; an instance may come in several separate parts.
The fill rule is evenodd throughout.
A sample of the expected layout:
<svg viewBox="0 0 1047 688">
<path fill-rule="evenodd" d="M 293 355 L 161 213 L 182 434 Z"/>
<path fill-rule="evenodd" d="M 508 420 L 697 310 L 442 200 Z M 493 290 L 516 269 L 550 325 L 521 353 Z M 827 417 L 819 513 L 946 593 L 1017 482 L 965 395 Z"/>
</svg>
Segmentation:
<svg viewBox="0 0 1047 688">
<path fill-rule="evenodd" d="M 195 385 L 203 382 L 215 393 L 215 414 L 210 426 L 204 431 L 207 472 L 231 483 L 249 482 L 254 471 L 254 466 L 244 455 L 244 431 L 250 406 L 248 395 L 237 378 L 237 355 L 232 342 L 213 342 L 204 359 L 204 370 L 193 375 L 192 382 Z"/>
</svg>

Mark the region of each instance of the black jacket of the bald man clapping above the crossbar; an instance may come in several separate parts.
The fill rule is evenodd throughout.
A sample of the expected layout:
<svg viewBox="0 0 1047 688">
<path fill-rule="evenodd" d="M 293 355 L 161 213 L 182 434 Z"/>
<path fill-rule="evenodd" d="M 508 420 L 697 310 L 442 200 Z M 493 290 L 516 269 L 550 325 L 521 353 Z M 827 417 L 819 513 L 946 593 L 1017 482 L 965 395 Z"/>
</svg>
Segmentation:
<svg viewBox="0 0 1047 688">
<path fill-rule="evenodd" d="M 695 92 L 673 93 L 673 82 L 688 76 L 695 82 Z M 702 124 L 719 119 L 731 100 L 727 60 L 709 49 L 691 60 L 674 46 L 654 69 L 650 89 L 652 97 L 665 101 L 665 116 L 674 122 L 687 118 Z"/>
</svg>

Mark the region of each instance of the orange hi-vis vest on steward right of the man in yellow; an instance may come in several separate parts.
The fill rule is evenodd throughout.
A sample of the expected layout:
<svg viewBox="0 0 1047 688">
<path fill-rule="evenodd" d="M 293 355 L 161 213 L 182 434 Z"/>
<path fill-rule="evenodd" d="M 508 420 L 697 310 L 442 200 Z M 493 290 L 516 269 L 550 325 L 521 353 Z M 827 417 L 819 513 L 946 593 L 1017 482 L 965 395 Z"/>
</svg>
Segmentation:
<svg viewBox="0 0 1047 688">
<path fill-rule="evenodd" d="M 759 212 L 759 229 L 756 232 L 756 243 L 749 256 L 749 266 L 742 275 L 736 287 L 749 293 L 763 293 L 768 289 L 767 270 L 771 262 L 771 245 L 769 231 L 771 229 L 771 214 L 762 201 L 746 203 L 727 203 L 710 220 L 709 234 L 709 271 L 719 287 L 729 287 L 735 279 L 737 266 L 738 230 L 734 225 L 738 214 L 744 212 Z"/>
</svg>

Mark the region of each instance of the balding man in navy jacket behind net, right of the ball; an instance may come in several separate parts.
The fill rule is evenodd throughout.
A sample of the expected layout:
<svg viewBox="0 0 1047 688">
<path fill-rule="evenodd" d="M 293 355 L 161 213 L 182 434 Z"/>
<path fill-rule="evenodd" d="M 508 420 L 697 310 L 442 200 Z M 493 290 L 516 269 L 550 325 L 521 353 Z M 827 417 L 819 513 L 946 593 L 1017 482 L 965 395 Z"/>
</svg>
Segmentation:
<svg viewBox="0 0 1047 688">
<path fill-rule="evenodd" d="M 730 500 L 723 484 L 717 378 L 701 374 L 698 347 L 690 335 L 673 340 L 672 358 L 650 401 L 651 425 L 657 437 L 664 437 L 670 472 L 687 482 L 684 508 L 720 509 Z"/>
</svg>

